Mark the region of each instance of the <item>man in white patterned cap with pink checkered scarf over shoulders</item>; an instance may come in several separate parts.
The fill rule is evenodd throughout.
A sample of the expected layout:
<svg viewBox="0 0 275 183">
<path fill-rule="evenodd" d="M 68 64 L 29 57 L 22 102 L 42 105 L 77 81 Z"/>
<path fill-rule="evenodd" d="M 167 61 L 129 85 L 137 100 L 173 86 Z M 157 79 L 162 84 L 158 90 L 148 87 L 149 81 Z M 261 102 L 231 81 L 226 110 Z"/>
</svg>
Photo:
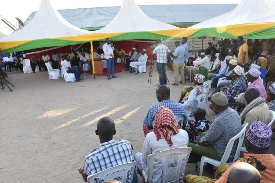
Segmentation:
<svg viewBox="0 0 275 183">
<path fill-rule="evenodd" d="M 251 84 L 248 85 L 247 89 L 251 87 L 257 88 L 260 92 L 260 96 L 265 101 L 267 94 L 262 79 L 260 78 L 260 75 L 261 72 L 258 69 L 255 69 L 254 67 L 249 69 L 247 73 L 247 82 L 251 82 Z"/>
</svg>

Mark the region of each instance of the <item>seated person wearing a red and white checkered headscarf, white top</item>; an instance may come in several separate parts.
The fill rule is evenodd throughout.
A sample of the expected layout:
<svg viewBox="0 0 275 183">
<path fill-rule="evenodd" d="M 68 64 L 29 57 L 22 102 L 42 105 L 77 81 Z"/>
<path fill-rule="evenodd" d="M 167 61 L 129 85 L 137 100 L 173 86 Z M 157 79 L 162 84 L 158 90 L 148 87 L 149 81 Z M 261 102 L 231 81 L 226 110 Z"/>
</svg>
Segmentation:
<svg viewBox="0 0 275 183">
<path fill-rule="evenodd" d="M 142 153 L 135 154 L 135 161 L 137 162 L 137 172 L 141 173 L 147 168 L 147 156 L 168 150 L 171 148 L 187 147 L 188 133 L 180 129 L 176 123 L 174 113 L 165 106 L 158 108 L 153 122 L 153 132 L 146 135 L 142 146 Z M 182 170 L 186 161 L 182 161 Z M 169 175 L 167 175 L 169 176 Z M 154 160 L 153 179 L 152 182 L 161 182 L 162 177 L 162 163 L 160 159 Z M 180 171 L 180 179 L 184 178 L 184 171 Z"/>
</svg>

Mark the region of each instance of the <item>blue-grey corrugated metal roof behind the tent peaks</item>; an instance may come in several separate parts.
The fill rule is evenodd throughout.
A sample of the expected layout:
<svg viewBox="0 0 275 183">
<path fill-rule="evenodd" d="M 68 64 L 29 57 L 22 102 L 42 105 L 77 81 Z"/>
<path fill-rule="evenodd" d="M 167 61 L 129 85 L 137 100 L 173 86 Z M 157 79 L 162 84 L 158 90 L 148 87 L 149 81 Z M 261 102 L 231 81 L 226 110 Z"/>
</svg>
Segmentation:
<svg viewBox="0 0 275 183">
<path fill-rule="evenodd" d="M 165 23 L 199 23 L 231 11 L 237 4 L 207 5 L 139 5 L 150 18 Z M 120 7 L 96 7 L 58 10 L 60 15 L 72 25 L 87 29 L 103 27 L 117 15 Z M 28 17 L 32 19 L 36 12 Z"/>
</svg>

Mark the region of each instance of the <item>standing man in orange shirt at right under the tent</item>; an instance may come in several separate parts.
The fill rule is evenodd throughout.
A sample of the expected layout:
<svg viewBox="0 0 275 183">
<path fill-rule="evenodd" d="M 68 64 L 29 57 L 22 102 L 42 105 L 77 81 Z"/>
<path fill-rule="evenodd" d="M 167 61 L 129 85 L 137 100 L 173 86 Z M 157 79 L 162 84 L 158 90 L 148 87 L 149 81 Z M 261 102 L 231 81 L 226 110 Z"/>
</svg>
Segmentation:
<svg viewBox="0 0 275 183">
<path fill-rule="evenodd" d="M 244 42 L 243 37 L 238 37 L 237 43 L 239 45 L 238 65 L 243 67 L 245 72 L 248 72 L 248 45 Z"/>
</svg>

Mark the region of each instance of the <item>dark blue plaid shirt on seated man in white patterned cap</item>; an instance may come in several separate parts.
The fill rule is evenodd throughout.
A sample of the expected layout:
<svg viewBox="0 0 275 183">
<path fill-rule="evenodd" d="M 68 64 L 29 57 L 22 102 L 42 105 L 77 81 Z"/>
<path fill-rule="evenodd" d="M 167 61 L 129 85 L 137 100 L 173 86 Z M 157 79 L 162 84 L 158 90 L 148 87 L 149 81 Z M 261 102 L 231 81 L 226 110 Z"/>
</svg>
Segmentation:
<svg viewBox="0 0 275 183">
<path fill-rule="evenodd" d="M 235 101 L 234 97 L 236 97 L 241 93 L 244 93 L 245 90 L 246 90 L 246 82 L 242 76 L 239 77 L 236 81 L 234 81 L 230 85 L 229 91 L 227 93 L 228 106 L 230 108 L 237 106 L 237 102 Z"/>
</svg>

